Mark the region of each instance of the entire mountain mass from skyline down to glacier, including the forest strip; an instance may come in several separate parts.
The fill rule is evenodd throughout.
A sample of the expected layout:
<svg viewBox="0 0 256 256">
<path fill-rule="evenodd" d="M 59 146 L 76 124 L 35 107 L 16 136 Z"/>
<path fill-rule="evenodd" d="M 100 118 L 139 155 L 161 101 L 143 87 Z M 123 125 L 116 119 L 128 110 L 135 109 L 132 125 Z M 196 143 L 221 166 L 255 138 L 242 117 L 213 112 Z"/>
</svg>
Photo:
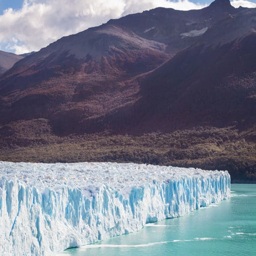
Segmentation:
<svg viewBox="0 0 256 256">
<path fill-rule="evenodd" d="M 109 20 L 0 78 L 1 159 L 147 162 L 256 181 L 256 9 Z"/>
</svg>

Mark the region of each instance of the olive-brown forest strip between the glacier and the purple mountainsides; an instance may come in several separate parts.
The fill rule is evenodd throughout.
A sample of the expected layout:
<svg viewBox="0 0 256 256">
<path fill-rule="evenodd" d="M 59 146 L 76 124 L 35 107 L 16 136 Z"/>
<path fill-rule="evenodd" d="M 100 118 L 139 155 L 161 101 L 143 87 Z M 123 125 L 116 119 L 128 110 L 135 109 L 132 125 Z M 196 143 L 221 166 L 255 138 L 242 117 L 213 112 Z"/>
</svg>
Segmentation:
<svg viewBox="0 0 256 256">
<path fill-rule="evenodd" d="M 8 127 L 7 127 L 8 126 Z M 256 182 L 255 127 L 198 127 L 142 135 L 53 135 L 45 119 L 0 127 L 0 160 L 136 162 L 228 170 L 232 182 Z"/>
</svg>

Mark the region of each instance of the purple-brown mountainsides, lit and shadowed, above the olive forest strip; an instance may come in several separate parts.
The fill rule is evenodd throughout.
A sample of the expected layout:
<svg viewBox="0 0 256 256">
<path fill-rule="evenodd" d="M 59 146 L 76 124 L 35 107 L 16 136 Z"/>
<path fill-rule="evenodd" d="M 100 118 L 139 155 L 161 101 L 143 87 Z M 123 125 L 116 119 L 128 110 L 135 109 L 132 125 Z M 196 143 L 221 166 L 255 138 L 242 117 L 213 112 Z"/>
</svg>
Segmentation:
<svg viewBox="0 0 256 256">
<path fill-rule="evenodd" d="M 229 0 L 109 20 L 27 55 L 1 76 L 0 132 L 16 141 L 23 123 L 31 131 L 42 120 L 47 138 L 234 124 L 245 132 L 256 124 L 255 45 L 256 9 L 236 9 Z"/>
</svg>

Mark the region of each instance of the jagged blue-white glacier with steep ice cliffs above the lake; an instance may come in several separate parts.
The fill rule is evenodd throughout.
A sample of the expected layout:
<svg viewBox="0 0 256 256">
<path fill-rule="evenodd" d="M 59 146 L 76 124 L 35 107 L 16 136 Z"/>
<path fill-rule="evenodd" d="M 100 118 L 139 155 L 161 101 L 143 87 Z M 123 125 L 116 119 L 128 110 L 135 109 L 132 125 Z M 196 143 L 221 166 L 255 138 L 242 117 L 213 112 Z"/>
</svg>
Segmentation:
<svg viewBox="0 0 256 256">
<path fill-rule="evenodd" d="M 56 255 L 229 197 L 227 171 L 0 162 L 0 251 Z"/>
</svg>

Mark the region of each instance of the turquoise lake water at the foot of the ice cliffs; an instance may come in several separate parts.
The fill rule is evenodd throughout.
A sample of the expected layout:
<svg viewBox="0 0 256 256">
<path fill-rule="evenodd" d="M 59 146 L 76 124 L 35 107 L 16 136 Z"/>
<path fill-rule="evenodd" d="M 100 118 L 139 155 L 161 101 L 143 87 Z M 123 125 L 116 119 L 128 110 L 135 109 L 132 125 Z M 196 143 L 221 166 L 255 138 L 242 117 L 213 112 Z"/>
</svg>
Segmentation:
<svg viewBox="0 0 256 256">
<path fill-rule="evenodd" d="M 256 256 L 256 184 L 231 190 L 230 200 L 63 256 Z"/>
</svg>

